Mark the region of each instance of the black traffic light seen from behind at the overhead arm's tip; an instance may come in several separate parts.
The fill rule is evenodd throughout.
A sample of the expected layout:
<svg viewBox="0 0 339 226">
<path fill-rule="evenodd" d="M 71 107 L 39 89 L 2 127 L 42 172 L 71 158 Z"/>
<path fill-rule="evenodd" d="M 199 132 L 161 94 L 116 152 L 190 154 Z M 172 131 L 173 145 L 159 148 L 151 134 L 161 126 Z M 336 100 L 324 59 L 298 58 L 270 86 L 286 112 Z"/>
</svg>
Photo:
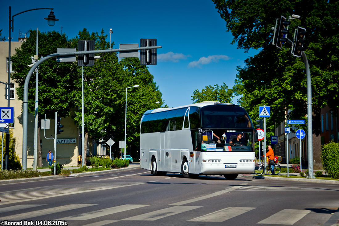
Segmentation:
<svg viewBox="0 0 339 226">
<path fill-rule="evenodd" d="M 157 39 L 140 39 L 140 47 L 157 46 Z M 157 49 L 140 50 L 140 65 L 157 65 Z"/>
</svg>

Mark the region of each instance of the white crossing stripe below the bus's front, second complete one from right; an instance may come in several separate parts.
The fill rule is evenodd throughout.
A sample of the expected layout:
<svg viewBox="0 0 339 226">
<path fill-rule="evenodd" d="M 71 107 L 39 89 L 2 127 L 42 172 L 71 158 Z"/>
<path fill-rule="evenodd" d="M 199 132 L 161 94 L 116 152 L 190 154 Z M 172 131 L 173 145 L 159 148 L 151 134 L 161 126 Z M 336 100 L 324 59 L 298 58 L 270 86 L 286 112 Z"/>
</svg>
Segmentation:
<svg viewBox="0 0 339 226">
<path fill-rule="evenodd" d="M 221 209 L 213 213 L 208 213 L 206 215 L 199 216 L 197 218 L 194 218 L 188 221 L 224 222 L 228 219 L 234 218 L 235 216 L 238 216 L 240 214 L 243 214 L 253 209 L 255 209 L 255 207 L 254 208 L 252 207 L 227 207 L 225 209 Z"/>
</svg>

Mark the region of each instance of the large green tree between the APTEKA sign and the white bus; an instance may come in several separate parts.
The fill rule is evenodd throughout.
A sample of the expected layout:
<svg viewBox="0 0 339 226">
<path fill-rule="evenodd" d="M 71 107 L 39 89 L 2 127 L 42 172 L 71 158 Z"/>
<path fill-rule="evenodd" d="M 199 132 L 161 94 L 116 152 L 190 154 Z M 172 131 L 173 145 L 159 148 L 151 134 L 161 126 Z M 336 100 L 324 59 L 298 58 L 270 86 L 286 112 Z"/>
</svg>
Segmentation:
<svg viewBox="0 0 339 226">
<path fill-rule="evenodd" d="M 83 29 L 72 39 L 95 40 L 95 49 L 108 49 L 107 35 Z M 114 43 L 113 43 L 114 45 Z M 118 61 L 116 53 L 100 54 L 93 67 L 84 67 L 84 123 L 85 147 L 88 136 L 106 143 L 109 138 L 124 139 L 125 89 L 139 84 L 140 88 L 128 89 L 127 95 L 127 145 L 139 145 L 140 120 L 146 110 L 156 108 L 155 102 L 162 102 L 162 94 L 153 81 L 153 75 L 146 66 L 140 65 L 138 58 Z M 81 77 L 74 92 L 76 106 L 81 106 Z M 81 125 L 81 110 L 75 112 L 74 120 Z"/>
</svg>

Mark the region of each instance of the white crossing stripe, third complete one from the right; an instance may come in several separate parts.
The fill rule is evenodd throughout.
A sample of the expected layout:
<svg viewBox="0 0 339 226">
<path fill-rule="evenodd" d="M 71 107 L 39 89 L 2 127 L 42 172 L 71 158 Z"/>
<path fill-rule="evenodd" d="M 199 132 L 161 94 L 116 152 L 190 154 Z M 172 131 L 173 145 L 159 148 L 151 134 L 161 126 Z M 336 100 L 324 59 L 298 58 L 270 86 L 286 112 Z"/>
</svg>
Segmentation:
<svg viewBox="0 0 339 226">
<path fill-rule="evenodd" d="M 189 210 L 197 209 L 202 206 L 172 206 L 165 209 L 156 210 L 153 212 L 132 216 L 130 218 L 122 219 L 121 221 L 155 221 L 166 216 L 172 216 L 178 213 L 186 212 Z"/>
</svg>

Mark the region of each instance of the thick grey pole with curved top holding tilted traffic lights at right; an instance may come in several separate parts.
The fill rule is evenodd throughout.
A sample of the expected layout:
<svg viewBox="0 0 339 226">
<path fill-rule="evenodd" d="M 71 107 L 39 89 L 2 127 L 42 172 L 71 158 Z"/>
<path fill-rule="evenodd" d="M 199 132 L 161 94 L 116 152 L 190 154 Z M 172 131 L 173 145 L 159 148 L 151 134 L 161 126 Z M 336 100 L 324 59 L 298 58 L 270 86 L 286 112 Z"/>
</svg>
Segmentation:
<svg viewBox="0 0 339 226">
<path fill-rule="evenodd" d="M 307 143 L 308 143 L 308 178 L 314 178 L 313 175 L 313 131 L 312 131 L 312 84 L 310 67 L 304 51 L 301 52 L 302 59 L 305 63 L 307 79 Z"/>
</svg>

